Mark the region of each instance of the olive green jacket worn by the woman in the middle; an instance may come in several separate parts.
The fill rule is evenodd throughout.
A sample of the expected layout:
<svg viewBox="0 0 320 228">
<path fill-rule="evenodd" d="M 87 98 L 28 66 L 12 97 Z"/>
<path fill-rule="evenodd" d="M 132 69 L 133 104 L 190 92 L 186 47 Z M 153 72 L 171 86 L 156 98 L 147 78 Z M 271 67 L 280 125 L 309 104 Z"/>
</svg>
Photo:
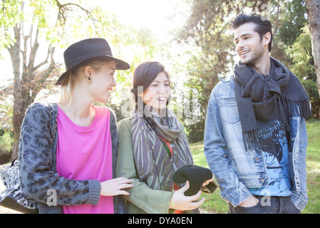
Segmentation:
<svg viewBox="0 0 320 228">
<path fill-rule="evenodd" d="M 130 195 L 125 198 L 125 206 L 129 214 L 167 214 L 175 210 L 169 209 L 172 192 L 153 190 L 145 182 L 140 181 L 135 169 L 133 142 L 131 138 L 131 118 L 125 118 L 118 123 L 119 150 L 117 162 L 117 177 L 133 179 L 133 187 L 128 190 Z M 182 123 L 182 133 L 185 134 Z"/>
</svg>

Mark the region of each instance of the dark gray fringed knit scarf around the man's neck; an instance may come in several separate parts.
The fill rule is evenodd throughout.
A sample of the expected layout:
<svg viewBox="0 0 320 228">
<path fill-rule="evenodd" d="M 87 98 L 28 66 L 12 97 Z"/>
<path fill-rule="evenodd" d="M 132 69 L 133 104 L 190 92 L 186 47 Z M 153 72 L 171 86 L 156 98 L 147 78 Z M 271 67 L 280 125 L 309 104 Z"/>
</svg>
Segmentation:
<svg viewBox="0 0 320 228">
<path fill-rule="evenodd" d="M 299 79 L 277 59 L 270 57 L 270 61 L 269 76 L 241 61 L 234 65 L 234 90 L 246 150 L 261 148 L 258 135 L 278 128 L 275 123 L 288 129 L 289 116 L 294 113 L 303 118 L 311 116 L 310 99 Z M 279 133 L 286 131 L 273 132 L 272 138 L 281 138 L 284 135 Z"/>
</svg>

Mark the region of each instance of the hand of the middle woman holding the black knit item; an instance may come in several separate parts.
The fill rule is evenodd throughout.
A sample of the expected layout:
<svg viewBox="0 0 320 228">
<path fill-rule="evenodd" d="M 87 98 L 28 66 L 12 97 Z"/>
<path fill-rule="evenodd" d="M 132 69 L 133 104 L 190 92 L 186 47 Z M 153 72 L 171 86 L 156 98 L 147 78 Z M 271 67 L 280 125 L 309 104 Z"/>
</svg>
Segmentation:
<svg viewBox="0 0 320 228">
<path fill-rule="evenodd" d="M 180 188 L 180 190 L 177 190 L 175 191 L 175 193 L 173 193 L 170 200 L 170 208 L 185 211 L 190 209 L 196 209 L 197 207 L 200 207 L 203 202 L 205 202 L 205 197 L 203 197 L 199 202 L 194 202 L 195 200 L 199 199 L 201 191 L 199 191 L 196 195 L 186 197 L 185 191 L 189 189 L 189 186 L 189 182 L 187 181 L 184 187 Z"/>
</svg>

